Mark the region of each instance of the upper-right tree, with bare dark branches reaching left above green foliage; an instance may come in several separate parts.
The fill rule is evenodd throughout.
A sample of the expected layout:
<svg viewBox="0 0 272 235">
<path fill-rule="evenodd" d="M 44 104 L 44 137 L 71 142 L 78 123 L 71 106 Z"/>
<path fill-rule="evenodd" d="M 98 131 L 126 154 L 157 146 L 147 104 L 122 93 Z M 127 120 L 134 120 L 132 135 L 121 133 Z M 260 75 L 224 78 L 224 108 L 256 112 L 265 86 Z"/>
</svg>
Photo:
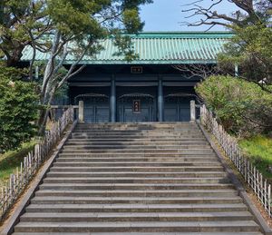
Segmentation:
<svg viewBox="0 0 272 235">
<path fill-rule="evenodd" d="M 219 5 L 232 4 L 237 11 L 220 13 Z M 209 1 L 208 1 L 209 3 Z M 189 1 L 185 12 L 191 22 L 189 26 L 222 25 L 234 33 L 226 45 L 225 53 L 219 54 L 220 70 L 233 74 L 238 65 L 238 76 L 258 84 L 264 91 L 271 92 L 272 84 L 272 1 L 271 0 L 203 0 Z M 194 17 L 199 20 L 193 21 Z"/>
</svg>

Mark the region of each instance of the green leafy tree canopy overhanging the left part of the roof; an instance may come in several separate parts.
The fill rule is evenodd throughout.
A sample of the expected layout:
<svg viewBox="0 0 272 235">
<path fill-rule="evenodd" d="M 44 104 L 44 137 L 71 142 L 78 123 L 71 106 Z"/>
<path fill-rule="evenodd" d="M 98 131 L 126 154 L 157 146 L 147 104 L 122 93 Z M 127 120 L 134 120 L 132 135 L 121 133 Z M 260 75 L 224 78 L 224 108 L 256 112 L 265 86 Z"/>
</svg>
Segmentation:
<svg viewBox="0 0 272 235">
<path fill-rule="evenodd" d="M 136 33 L 142 29 L 140 5 L 152 0 L 2 0 L 0 2 L 0 56 L 16 65 L 26 45 L 48 52 L 61 33 L 63 41 L 86 45 L 108 35 Z M 127 40 L 127 39 L 126 39 Z M 92 41 L 92 47 L 88 42 Z M 119 43 L 121 43 L 119 41 Z M 65 44 L 65 43 L 63 43 Z M 126 51 L 131 53 L 131 51 Z M 129 58 L 129 57 L 128 57 Z M 30 71 L 31 73 L 31 71 Z"/>
</svg>

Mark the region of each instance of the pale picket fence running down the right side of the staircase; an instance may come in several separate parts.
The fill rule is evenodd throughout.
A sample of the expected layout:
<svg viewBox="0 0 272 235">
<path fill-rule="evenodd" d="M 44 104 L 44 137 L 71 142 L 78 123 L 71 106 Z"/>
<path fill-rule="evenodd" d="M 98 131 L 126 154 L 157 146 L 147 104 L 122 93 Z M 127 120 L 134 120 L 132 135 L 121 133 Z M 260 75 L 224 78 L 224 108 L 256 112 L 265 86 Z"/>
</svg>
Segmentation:
<svg viewBox="0 0 272 235">
<path fill-rule="evenodd" d="M 263 175 L 257 171 L 248 158 L 243 156 L 237 140 L 224 130 L 222 125 L 217 122 L 213 114 L 206 108 L 205 104 L 200 107 L 200 121 L 215 136 L 221 148 L 231 162 L 234 163 L 271 217 L 271 185 L 267 183 L 267 180 L 263 178 Z"/>
</svg>

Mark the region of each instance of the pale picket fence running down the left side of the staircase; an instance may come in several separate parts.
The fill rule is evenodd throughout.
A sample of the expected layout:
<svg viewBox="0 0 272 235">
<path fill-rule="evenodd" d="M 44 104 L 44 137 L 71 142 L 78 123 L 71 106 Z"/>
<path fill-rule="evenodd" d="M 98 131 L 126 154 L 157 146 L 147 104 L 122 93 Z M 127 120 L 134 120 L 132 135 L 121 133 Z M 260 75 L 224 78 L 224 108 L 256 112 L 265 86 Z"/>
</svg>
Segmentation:
<svg viewBox="0 0 272 235">
<path fill-rule="evenodd" d="M 29 152 L 21 162 L 20 168 L 17 168 L 14 174 L 10 175 L 9 182 L 1 189 L 0 198 L 0 221 L 5 212 L 15 203 L 18 196 L 24 191 L 25 186 L 33 178 L 41 164 L 53 151 L 53 148 L 60 141 L 64 129 L 69 123 L 73 122 L 73 107 L 69 107 L 58 122 L 53 124 L 50 131 L 47 131 L 44 140 L 35 145 L 34 151 Z"/>
</svg>

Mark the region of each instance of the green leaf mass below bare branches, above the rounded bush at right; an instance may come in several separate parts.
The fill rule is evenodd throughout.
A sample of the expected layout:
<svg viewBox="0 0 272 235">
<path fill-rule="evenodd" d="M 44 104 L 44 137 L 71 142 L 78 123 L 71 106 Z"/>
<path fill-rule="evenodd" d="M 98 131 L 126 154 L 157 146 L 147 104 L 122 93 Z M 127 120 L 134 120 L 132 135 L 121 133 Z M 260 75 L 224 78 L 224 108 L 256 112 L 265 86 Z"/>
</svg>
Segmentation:
<svg viewBox="0 0 272 235">
<path fill-rule="evenodd" d="M 238 76 L 257 83 L 263 90 L 272 93 L 272 28 L 265 24 L 233 27 L 234 36 L 219 54 L 219 66 L 223 70 L 238 64 Z"/>
</svg>

